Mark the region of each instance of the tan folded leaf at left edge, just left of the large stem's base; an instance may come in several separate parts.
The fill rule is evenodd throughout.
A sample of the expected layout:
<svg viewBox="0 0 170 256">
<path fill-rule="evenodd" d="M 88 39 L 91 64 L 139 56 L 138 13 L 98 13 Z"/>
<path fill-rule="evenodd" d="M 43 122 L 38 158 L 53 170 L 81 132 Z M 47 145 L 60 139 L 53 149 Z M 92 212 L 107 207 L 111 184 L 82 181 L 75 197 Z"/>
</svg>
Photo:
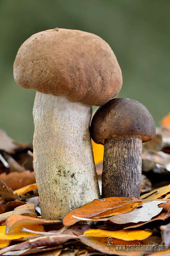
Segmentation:
<svg viewBox="0 0 170 256">
<path fill-rule="evenodd" d="M 30 217 L 37 217 L 37 214 L 35 213 L 35 205 L 34 204 L 24 204 L 21 206 L 16 207 L 11 212 L 5 212 L 0 215 L 0 222 L 6 220 L 9 216 L 12 214 L 18 214 L 18 215 L 25 215 Z"/>
</svg>

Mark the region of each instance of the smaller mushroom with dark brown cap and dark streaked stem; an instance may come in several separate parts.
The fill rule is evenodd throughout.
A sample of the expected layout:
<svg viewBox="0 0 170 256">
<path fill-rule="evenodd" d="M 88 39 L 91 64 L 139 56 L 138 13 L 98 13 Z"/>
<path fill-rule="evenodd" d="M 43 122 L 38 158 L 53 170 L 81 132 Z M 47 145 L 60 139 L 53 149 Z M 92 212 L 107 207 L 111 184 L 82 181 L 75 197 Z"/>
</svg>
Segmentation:
<svg viewBox="0 0 170 256">
<path fill-rule="evenodd" d="M 147 108 L 132 99 L 110 100 L 94 114 L 90 132 L 94 142 L 104 144 L 102 198 L 139 198 L 142 142 L 155 137 Z"/>
</svg>

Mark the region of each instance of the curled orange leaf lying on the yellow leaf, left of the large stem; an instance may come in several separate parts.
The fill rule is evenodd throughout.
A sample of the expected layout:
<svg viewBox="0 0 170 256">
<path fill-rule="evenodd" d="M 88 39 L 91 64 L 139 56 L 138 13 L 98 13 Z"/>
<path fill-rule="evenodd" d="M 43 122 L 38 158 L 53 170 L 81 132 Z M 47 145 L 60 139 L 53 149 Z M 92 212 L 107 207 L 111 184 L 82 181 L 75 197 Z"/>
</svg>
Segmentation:
<svg viewBox="0 0 170 256">
<path fill-rule="evenodd" d="M 34 224 L 56 224 L 62 223 L 60 220 L 44 220 L 44 219 L 37 219 L 29 216 L 21 216 L 17 214 L 12 214 L 6 220 L 6 231 L 5 234 L 8 235 L 8 232 L 13 230 L 16 227 L 22 226 L 25 227 L 26 225 L 34 225 Z"/>
</svg>

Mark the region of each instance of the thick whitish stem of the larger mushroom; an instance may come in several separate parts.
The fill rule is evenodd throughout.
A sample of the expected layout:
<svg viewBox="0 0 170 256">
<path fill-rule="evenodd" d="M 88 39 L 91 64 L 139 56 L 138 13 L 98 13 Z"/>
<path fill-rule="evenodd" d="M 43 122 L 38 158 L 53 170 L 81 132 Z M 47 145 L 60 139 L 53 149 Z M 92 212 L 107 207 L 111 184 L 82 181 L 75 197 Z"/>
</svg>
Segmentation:
<svg viewBox="0 0 170 256">
<path fill-rule="evenodd" d="M 89 124 L 92 107 L 36 93 L 33 168 L 43 219 L 62 220 L 100 198 Z"/>
</svg>

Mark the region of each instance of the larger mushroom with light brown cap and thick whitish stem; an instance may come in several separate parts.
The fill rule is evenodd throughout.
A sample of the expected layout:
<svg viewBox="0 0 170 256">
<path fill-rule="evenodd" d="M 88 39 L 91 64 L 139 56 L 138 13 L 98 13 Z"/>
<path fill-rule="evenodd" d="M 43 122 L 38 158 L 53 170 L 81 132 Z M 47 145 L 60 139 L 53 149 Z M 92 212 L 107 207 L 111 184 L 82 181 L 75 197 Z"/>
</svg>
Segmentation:
<svg viewBox="0 0 170 256">
<path fill-rule="evenodd" d="M 14 79 L 37 91 L 33 106 L 33 168 L 41 216 L 58 219 L 100 198 L 89 126 L 122 87 L 122 72 L 99 36 L 49 29 L 28 38 L 14 62 Z"/>
</svg>

